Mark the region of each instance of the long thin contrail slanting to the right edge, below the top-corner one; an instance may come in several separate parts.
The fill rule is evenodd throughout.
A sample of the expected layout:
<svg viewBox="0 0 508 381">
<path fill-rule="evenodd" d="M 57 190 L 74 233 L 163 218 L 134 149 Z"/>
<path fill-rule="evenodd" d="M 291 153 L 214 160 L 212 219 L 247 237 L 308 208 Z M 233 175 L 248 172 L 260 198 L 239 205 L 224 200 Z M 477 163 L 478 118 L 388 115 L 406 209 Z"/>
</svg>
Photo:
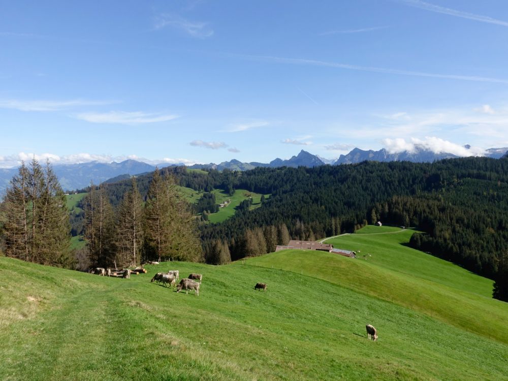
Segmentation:
<svg viewBox="0 0 508 381">
<path fill-rule="evenodd" d="M 320 60 L 315 60 L 315 59 L 284 58 L 284 57 L 260 56 L 260 55 L 239 55 L 238 57 L 241 57 L 243 59 L 261 61 L 261 62 L 289 63 L 291 65 L 319 66 L 319 67 L 357 70 L 357 71 L 373 72 L 373 73 L 398 74 L 398 75 L 407 75 L 407 76 L 415 76 L 415 77 L 431 77 L 431 78 L 443 78 L 443 79 L 457 79 L 457 80 L 463 80 L 463 81 L 494 82 L 494 83 L 508 84 L 508 79 L 467 76 L 467 75 L 459 75 L 459 74 L 438 74 L 438 73 L 414 72 L 414 71 L 408 71 L 408 70 L 348 65 L 346 63 L 320 61 Z"/>
</svg>

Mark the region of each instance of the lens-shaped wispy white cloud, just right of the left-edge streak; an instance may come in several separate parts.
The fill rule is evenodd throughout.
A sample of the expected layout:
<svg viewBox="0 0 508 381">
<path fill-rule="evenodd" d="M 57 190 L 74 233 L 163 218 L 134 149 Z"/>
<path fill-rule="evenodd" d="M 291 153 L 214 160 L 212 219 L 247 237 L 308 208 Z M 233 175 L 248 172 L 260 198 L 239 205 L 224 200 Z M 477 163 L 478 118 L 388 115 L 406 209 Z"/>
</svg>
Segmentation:
<svg viewBox="0 0 508 381">
<path fill-rule="evenodd" d="M 141 111 L 110 111 L 110 112 L 85 112 L 77 114 L 76 118 L 86 120 L 90 123 L 112 123 L 112 124 L 144 124 L 165 122 L 177 118 L 177 115 L 153 114 Z"/>
</svg>

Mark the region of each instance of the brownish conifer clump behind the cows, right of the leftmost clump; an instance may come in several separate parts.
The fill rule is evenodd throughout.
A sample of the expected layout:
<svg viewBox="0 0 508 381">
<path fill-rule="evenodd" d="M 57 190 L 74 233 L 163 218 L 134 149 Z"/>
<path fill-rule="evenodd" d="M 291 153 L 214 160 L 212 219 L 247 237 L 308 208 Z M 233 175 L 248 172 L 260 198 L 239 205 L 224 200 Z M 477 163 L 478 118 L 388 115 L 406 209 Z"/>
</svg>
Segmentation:
<svg viewBox="0 0 508 381">
<path fill-rule="evenodd" d="M 202 261 L 196 219 L 178 194 L 174 178 L 161 176 L 157 169 L 144 198 L 136 177 L 129 181 L 116 208 L 104 185 L 90 186 L 83 199 L 87 265 L 125 267 L 162 259 Z"/>
</svg>

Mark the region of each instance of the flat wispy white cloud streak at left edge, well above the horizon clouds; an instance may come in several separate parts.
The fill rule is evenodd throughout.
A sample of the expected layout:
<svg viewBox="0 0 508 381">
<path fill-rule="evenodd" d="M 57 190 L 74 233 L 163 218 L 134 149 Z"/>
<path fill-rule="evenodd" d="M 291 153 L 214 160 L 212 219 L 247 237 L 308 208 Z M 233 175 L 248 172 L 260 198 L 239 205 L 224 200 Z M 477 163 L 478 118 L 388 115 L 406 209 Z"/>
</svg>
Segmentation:
<svg viewBox="0 0 508 381">
<path fill-rule="evenodd" d="M 0 108 L 15 109 L 20 111 L 60 111 L 80 106 L 103 106 L 117 103 L 113 101 L 87 101 L 74 99 L 69 101 L 44 101 L 44 100 L 0 100 Z"/>
</svg>

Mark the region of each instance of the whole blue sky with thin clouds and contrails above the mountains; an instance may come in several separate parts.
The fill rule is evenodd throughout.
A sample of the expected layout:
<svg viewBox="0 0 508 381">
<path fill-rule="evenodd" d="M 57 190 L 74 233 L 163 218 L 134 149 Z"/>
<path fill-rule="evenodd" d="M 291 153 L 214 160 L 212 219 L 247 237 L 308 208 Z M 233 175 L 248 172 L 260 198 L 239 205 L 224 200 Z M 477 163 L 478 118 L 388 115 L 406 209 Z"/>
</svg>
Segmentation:
<svg viewBox="0 0 508 381">
<path fill-rule="evenodd" d="M 0 1 L 0 167 L 481 154 L 506 41 L 504 1 Z"/>
</svg>

